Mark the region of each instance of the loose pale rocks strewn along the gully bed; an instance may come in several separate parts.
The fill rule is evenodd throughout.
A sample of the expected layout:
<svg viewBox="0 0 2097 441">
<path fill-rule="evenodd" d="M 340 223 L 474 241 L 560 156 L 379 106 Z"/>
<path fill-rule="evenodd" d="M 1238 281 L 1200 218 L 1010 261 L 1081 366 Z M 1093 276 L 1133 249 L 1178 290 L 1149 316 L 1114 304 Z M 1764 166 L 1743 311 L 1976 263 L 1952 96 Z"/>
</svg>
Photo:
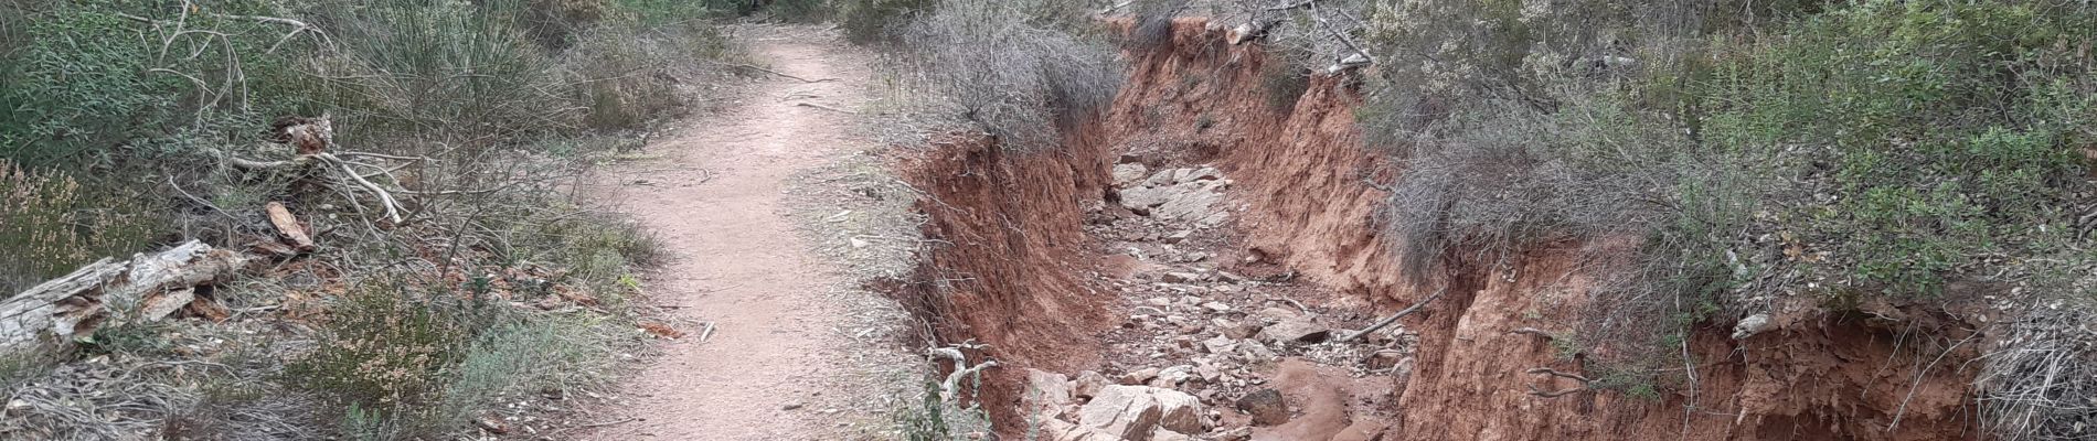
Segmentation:
<svg viewBox="0 0 2097 441">
<path fill-rule="evenodd" d="M 1290 299 L 1315 286 L 1227 270 L 1258 253 L 1218 261 L 1237 247 L 1225 230 L 1231 180 L 1218 169 L 1122 163 L 1114 178 L 1120 201 L 1093 207 L 1088 232 L 1105 238 L 1107 253 L 1132 257 L 1126 272 L 1097 278 L 1122 293 L 1126 320 L 1103 336 L 1101 372 L 1030 370 L 1023 414 L 1040 439 L 1254 439 L 1309 412 L 1273 385 L 1285 359 L 1355 378 L 1409 372 L 1413 336 L 1401 328 L 1334 343 L 1353 332 L 1344 324 L 1369 320 Z"/>
</svg>

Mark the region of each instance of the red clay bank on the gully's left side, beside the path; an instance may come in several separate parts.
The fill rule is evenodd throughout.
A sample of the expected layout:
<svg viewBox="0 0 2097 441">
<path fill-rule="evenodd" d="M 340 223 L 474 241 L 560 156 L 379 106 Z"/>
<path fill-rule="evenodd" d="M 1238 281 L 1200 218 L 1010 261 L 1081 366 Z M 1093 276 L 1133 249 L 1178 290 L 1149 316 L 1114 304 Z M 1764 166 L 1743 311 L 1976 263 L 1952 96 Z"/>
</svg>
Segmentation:
<svg viewBox="0 0 2097 441">
<path fill-rule="evenodd" d="M 883 286 L 942 343 L 988 343 L 1004 366 L 990 370 L 986 403 L 1017 401 L 1019 366 L 1078 370 L 1097 364 L 1093 334 L 1107 326 L 1111 295 L 1088 288 L 1076 270 L 1095 268 L 1080 203 L 1107 184 L 1097 136 L 1072 136 L 1067 150 L 1011 153 L 983 136 L 950 134 L 904 163 L 904 180 L 927 192 L 925 247 L 910 280 Z M 971 362 L 981 353 L 971 353 Z M 1000 424 L 1019 422 L 990 405 Z"/>
</svg>

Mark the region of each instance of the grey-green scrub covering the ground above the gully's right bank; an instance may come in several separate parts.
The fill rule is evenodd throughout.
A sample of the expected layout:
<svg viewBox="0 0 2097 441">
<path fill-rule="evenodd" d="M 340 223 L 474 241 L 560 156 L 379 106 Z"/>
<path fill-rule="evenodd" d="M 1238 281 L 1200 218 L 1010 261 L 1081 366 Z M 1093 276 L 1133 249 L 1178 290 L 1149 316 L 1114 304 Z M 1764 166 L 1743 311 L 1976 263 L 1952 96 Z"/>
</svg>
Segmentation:
<svg viewBox="0 0 2097 441">
<path fill-rule="evenodd" d="M 2093 351 L 2042 324 L 2097 318 L 2093 29 L 2078 2 L 1304 2 L 1275 40 L 1376 59 L 1359 121 L 1405 163 L 1413 276 L 1451 249 L 1640 242 L 1598 259 L 1619 278 L 1562 336 L 1617 389 L 1694 387 L 1686 339 L 1776 303 L 1975 282 L 2045 309 L 1986 355 L 1984 426 L 2063 439 Z"/>
</svg>

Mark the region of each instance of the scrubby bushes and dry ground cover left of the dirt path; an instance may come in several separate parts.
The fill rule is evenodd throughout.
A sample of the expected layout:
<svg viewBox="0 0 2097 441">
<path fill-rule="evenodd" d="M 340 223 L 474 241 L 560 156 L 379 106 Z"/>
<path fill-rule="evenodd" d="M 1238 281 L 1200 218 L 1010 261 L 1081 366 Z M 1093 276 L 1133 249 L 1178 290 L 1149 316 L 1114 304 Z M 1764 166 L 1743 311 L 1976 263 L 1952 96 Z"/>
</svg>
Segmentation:
<svg viewBox="0 0 2097 441">
<path fill-rule="evenodd" d="M 579 184 L 749 65 L 713 19 L 820 2 L 736 4 L 0 2 L 0 293 L 189 238 L 264 259 L 195 320 L 0 355 L 0 437 L 438 439 L 600 385 L 656 257 Z"/>
</svg>

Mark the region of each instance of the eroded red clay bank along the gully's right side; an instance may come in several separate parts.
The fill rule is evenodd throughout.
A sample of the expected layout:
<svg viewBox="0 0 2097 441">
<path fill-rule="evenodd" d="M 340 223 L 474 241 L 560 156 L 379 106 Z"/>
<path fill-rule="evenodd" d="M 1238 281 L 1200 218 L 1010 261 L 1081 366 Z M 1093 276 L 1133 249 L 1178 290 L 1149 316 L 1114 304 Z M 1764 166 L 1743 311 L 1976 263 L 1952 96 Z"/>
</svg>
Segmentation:
<svg viewBox="0 0 2097 441">
<path fill-rule="evenodd" d="M 1317 77 L 1294 109 L 1277 109 L 1258 79 L 1267 63 L 1256 46 L 1229 46 L 1220 27 L 1174 23 L 1170 46 L 1132 54 L 1132 77 L 1109 113 L 1107 142 L 1141 155 L 1193 155 L 1239 180 L 1250 209 L 1239 228 L 1271 261 L 1390 311 L 1428 293 L 1401 278 L 1392 240 L 1376 211 L 1395 169 L 1367 150 L 1355 130 L 1357 94 L 1342 77 Z M 1189 88 L 1191 84 L 1191 88 Z M 1210 121 L 1210 123 L 1204 123 Z M 1405 207 L 1397 207 L 1405 209 Z M 1900 334 L 1965 339 L 1965 324 L 1942 311 L 1877 307 L 1908 324 L 1822 311 L 1780 314 L 1780 328 L 1732 341 L 1730 322 L 1690 343 L 1699 395 L 1638 399 L 1621 393 L 1529 395 L 1573 380 L 1525 374 L 1531 368 L 1577 372 L 1550 343 L 1514 328 L 1566 330 L 1585 299 L 1575 274 L 1596 247 L 1566 242 L 1508 259 L 1445 259 L 1449 293 L 1407 318 L 1422 334 L 1418 370 L 1405 387 L 1399 439 L 1977 439 L 1969 405 L 1973 345 L 1900 351 Z M 1451 251 L 1451 257 L 1470 255 Z M 1545 286 L 1550 284 L 1550 286 Z M 1571 291 L 1579 293 L 1579 291 Z M 1910 341 L 1912 343 L 1912 341 Z M 1925 370 L 1925 366 L 1931 366 Z M 1917 372 L 1927 372 L 1917 376 Z M 1688 410 L 1688 412 L 1686 412 Z M 1894 414 L 1900 424 L 1894 424 Z"/>
</svg>

